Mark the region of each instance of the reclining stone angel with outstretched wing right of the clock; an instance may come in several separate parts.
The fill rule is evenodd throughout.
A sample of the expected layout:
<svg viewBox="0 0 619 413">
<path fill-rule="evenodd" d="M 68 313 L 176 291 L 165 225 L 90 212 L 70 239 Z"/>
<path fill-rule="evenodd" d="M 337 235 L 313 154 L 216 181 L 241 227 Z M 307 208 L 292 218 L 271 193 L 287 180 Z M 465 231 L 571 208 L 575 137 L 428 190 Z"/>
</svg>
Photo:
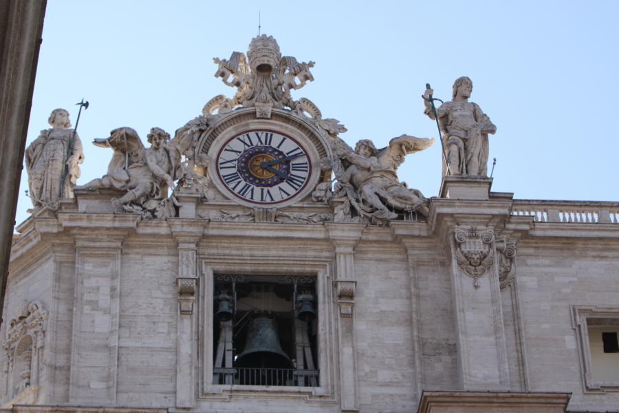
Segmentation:
<svg viewBox="0 0 619 413">
<path fill-rule="evenodd" d="M 373 224 L 397 218 L 395 211 L 428 215 L 428 200 L 417 189 L 409 189 L 400 182 L 396 171 L 407 154 L 431 147 L 434 139 L 402 135 L 391 139 L 389 146 L 380 150 L 371 140 L 363 139 L 357 142 L 354 151 L 343 140 L 332 142 L 338 156 L 333 165 L 338 180 L 336 191 L 347 197 L 336 211 L 336 220 L 354 220 L 351 209 Z"/>
</svg>

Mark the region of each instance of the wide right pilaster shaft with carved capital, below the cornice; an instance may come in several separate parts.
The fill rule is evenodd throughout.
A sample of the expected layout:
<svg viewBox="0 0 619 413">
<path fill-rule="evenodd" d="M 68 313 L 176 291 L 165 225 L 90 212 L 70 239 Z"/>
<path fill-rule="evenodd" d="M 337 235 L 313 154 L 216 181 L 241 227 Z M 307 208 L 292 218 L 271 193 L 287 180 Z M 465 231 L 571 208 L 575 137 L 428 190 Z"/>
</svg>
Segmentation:
<svg viewBox="0 0 619 413">
<path fill-rule="evenodd" d="M 489 226 L 456 225 L 448 237 L 462 389 L 507 390 L 495 231 Z"/>
</svg>

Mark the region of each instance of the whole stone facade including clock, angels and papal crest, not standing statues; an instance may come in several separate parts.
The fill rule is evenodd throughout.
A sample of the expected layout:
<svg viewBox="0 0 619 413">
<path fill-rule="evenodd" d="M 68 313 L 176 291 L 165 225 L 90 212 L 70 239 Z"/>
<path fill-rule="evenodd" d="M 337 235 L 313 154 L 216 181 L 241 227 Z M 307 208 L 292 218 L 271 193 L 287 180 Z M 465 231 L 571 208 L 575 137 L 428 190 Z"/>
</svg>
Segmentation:
<svg viewBox="0 0 619 413">
<path fill-rule="evenodd" d="M 483 173 L 428 200 L 397 169 L 432 140 L 348 147 L 290 95 L 313 62 L 259 36 L 216 63 L 234 98 L 149 149 L 114 129 L 107 175 L 18 226 L 3 411 L 617 409 L 587 326 L 619 325 L 619 203 Z"/>
</svg>

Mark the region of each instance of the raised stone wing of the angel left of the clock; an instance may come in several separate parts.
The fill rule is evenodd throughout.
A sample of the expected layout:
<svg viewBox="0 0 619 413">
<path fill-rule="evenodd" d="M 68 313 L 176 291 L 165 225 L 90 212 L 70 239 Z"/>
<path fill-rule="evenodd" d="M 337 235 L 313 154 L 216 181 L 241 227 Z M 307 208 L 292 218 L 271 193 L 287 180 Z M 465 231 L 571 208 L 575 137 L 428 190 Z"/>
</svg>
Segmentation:
<svg viewBox="0 0 619 413">
<path fill-rule="evenodd" d="M 114 154 L 107 167 L 108 172 L 126 169 L 129 165 L 138 162 L 144 149 L 138 132 L 131 127 L 113 129 L 109 138 L 95 139 L 93 144 L 98 147 L 113 149 Z"/>
</svg>

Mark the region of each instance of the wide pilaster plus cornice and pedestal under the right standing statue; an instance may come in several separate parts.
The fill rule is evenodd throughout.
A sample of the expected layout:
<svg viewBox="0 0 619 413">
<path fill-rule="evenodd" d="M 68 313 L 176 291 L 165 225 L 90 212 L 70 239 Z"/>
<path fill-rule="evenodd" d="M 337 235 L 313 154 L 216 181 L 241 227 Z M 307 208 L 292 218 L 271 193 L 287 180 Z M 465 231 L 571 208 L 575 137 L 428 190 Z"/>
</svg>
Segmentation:
<svg viewBox="0 0 619 413">
<path fill-rule="evenodd" d="M 462 390 L 510 389 L 499 277 L 499 255 L 507 245 L 499 235 L 512 200 L 491 193 L 491 183 L 490 178 L 444 178 L 442 196 L 449 198 L 433 200 L 429 216 L 432 232 L 450 255 Z"/>
</svg>

